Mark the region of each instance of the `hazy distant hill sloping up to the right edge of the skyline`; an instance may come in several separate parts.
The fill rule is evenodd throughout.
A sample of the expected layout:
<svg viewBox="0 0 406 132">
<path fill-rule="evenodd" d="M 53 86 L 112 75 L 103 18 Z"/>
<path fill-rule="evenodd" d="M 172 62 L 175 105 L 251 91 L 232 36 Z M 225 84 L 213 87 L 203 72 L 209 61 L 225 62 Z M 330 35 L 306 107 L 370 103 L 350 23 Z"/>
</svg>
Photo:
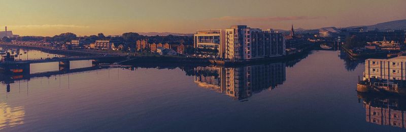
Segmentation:
<svg viewBox="0 0 406 132">
<path fill-rule="evenodd" d="M 350 28 L 354 27 L 367 27 L 368 30 L 374 30 L 375 28 L 378 28 L 379 30 L 399 30 L 399 29 L 404 30 L 406 29 L 406 20 L 396 20 L 369 26 L 351 26 Z"/>
</svg>

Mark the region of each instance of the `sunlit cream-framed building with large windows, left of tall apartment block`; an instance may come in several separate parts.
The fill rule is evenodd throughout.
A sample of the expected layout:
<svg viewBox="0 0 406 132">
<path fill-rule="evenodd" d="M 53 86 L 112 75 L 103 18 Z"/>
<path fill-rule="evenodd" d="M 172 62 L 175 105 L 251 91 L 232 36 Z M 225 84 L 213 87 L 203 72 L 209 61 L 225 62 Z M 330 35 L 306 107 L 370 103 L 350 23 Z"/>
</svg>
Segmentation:
<svg viewBox="0 0 406 132">
<path fill-rule="evenodd" d="M 201 54 L 224 58 L 225 30 L 197 30 L 194 34 L 194 48 Z"/>
</svg>

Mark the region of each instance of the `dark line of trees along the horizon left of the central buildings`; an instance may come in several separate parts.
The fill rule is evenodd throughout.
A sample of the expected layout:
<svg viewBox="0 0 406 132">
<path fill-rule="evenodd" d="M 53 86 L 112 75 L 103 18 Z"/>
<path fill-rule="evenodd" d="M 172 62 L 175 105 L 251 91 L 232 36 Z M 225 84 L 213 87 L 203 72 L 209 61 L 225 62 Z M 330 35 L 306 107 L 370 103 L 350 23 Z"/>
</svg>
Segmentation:
<svg viewBox="0 0 406 132">
<path fill-rule="evenodd" d="M 168 43 L 173 43 L 173 42 L 178 42 L 178 43 L 184 43 L 184 44 L 191 44 L 193 43 L 193 36 L 175 36 L 175 35 L 167 35 L 167 36 L 144 36 L 140 35 L 138 33 L 123 33 L 119 37 L 110 37 L 110 36 L 105 36 L 103 33 L 98 33 L 97 35 L 90 35 L 90 36 L 81 36 L 78 37 L 74 33 L 62 33 L 59 35 L 55 35 L 53 37 L 42 37 L 42 36 L 21 36 L 17 38 L 2 38 L 2 41 L 12 41 L 12 40 L 18 40 L 18 41 L 46 41 L 46 42 L 70 42 L 71 40 L 75 39 L 88 39 L 88 40 L 108 40 L 108 39 L 115 39 L 115 40 L 120 40 L 126 44 L 134 44 L 136 43 L 137 40 L 144 40 L 148 39 L 150 43 L 153 42 L 168 42 Z"/>
</svg>

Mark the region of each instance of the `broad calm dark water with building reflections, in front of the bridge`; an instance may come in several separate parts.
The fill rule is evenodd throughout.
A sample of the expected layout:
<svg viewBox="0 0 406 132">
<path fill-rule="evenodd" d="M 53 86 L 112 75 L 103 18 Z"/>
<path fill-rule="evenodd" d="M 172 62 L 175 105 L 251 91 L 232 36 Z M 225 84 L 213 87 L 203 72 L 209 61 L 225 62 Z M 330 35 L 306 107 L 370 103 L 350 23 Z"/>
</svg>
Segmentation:
<svg viewBox="0 0 406 132">
<path fill-rule="evenodd" d="M 241 68 L 111 68 L 3 81 L 0 129 L 404 131 L 370 116 L 376 109 L 404 113 L 379 103 L 403 99 L 357 94 L 363 63 L 342 58 L 314 51 L 300 61 Z"/>
</svg>

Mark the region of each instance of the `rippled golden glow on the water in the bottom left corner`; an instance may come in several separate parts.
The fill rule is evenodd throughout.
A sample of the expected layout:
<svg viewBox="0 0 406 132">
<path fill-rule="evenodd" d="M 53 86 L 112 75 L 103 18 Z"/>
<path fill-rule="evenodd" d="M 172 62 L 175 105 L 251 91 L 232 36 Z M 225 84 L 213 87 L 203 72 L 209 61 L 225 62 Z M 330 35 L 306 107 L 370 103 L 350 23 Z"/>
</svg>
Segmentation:
<svg viewBox="0 0 406 132">
<path fill-rule="evenodd" d="M 11 107 L 7 103 L 0 103 L 0 130 L 24 124 L 24 107 Z"/>
</svg>

